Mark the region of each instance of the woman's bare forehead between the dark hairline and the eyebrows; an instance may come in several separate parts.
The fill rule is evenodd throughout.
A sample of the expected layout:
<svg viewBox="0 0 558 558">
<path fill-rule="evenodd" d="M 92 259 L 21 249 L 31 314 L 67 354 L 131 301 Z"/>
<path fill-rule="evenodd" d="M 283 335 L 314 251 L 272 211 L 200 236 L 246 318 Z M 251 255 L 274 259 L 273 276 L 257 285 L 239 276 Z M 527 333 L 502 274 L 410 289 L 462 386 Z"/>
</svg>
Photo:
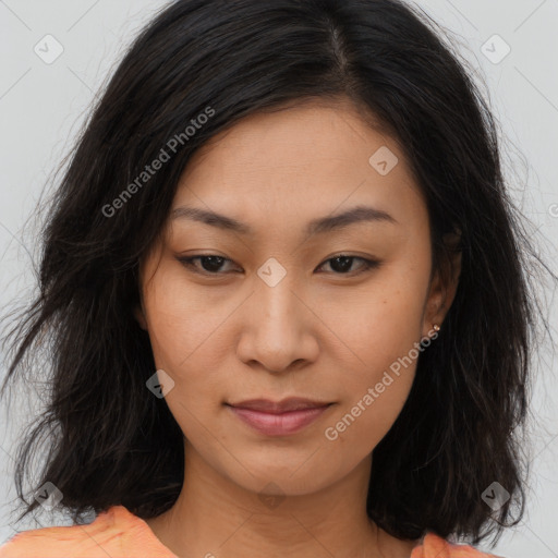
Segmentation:
<svg viewBox="0 0 558 558">
<path fill-rule="evenodd" d="M 398 142 L 369 120 L 343 101 L 251 114 L 194 154 L 172 209 L 269 229 L 366 204 L 412 228 L 426 218 L 421 192 Z"/>
</svg>

